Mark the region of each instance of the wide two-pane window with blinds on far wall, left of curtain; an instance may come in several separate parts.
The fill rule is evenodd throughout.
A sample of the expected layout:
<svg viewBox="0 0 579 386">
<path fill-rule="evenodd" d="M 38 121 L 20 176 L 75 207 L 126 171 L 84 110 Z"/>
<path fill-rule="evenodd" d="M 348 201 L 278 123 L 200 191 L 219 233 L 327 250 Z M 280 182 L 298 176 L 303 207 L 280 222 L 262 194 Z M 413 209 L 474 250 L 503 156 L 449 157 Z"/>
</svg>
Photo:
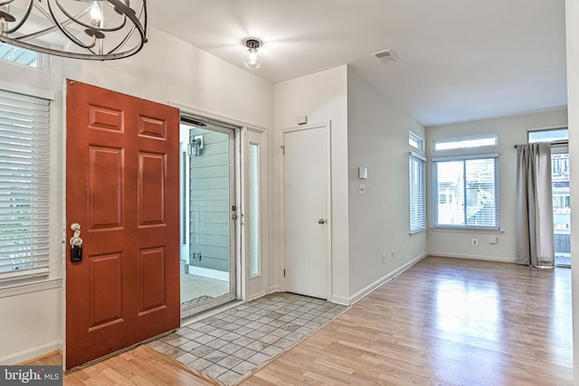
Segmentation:
<svg viewBox="0 0 579 386">
<path fill-rule="evenodd" d="M 432 161 L 434 226 L 498 230 L 498 155 Z"/>
</svg>

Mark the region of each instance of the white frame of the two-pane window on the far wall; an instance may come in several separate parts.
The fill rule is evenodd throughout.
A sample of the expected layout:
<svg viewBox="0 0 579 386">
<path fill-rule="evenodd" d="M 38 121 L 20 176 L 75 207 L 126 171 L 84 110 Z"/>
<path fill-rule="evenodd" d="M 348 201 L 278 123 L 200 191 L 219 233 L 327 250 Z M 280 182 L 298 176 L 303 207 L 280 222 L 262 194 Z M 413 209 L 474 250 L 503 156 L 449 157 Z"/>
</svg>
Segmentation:
<svg viewBox="0 0 579 386">
<path fill-rule="evenodd" d="M 440 223 L 440 216 L 439 216 L 439 202 L 440 202 L 440 188 L 439 188 L 439 176 L 438 176 L 438 168 L 437 166 L 440 163 L 444 162 L 462 162 L 463 167 L 463 184 L 466 187 L 468 184 L 466 178 L 466 163 L 471 160 L 485 160 L 485 159 L 493 159 L 494 162 L 494 212 L 496 218 L 495 225 L 472 225 L 468 224 L 468 206 L 464 206 L 464 217 L 463 217 L 463 224 L 447 224 L 447 223 Z M 477 230 L 477 231 L 499 231 L 500 230 L 500 178 L 499 178 L 499 162 L 498 162 L 498 154 L 477 154 L 477 155 L 457 155 L 457 156 L 448 156 L 448 157 L 437 157 L 432 159 L 432 200 L 433 200 L 433 221 L 432 226 L 435 229 L 455 229 L 455 230 Z M 463 193 L 461 200 L 462 202 L 468 202 L 468 189 L 463 188 Z"/>
</svg>

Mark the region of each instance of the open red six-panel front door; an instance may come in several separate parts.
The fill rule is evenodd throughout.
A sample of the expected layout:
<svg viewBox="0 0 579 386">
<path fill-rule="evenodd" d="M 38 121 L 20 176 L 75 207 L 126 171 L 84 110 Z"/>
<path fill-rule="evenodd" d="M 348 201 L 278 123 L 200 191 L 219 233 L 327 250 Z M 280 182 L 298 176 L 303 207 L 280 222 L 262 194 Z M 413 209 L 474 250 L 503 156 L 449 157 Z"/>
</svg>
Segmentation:
<svg viewBox="0 0 579 386">
<path fill-rule="evenodd" d="M 72 80 L 66 106 L 70 369 L 180 325 L 179 112 Z"/>
</svg>

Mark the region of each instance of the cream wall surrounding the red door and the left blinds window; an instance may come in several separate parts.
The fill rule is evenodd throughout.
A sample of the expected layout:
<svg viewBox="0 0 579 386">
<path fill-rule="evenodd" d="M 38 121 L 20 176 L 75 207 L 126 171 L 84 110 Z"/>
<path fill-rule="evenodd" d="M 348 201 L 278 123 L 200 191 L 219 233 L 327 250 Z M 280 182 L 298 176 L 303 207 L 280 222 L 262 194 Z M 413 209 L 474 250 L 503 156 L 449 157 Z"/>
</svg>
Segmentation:
<svg viewBox="0 0 579 386">
<path fill-rule="evenodd" d="M 142 52 L 120 61 L 52 58 L 50 72 L 0 63 L 5 85 L 54 92 L 52 102 L 51 277 L 35 286 L 0 288 L 0 364 L 22 362 L 63 341 L 64 79 L 79 80 L 160 103 L 177 103 L 250 127 L 273 125 L 273 85 L 166 33 L 149 28 Z"/>
</svg>

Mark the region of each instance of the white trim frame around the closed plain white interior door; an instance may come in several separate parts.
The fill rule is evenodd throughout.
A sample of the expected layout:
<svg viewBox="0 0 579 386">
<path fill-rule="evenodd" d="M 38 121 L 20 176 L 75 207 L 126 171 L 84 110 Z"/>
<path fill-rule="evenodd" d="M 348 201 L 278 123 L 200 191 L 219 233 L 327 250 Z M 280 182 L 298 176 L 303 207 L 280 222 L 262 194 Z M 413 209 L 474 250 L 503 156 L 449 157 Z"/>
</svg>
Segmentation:
<svg viewBox="0 0 579 386">
<path fill-rule="evenodd" d="M 325 128 L 326 129 L 326 141 L 327 141 L 327 158 L 326 158 L 326 184 L 327 184 L 327 300 L 331 301 L 332 299 L 332 168 L 331 168 L 331 159 L 332 159 L 332 147 L 331 147 L 331 125 L 330 121 L 327 122 L 320 122 L 320 123 L 311 123 L 308 125 L 301 125 L 298 127 L 288 127 L 281 130 L 280 136 L 280 223 L 282 225 L 282 229 L 285 229 L 286 223 L 286 215 L 285 215 L 285 171 L 284 171 L 284 138 L 285 134 L 289 132 L 295 131 L 302 131 L 302 130 L 309 130 L 314 128 Z M 281 288 L 283 291 L 288 290 L 288 286 L 285 279 L 285 267 L 286 267 L 286 240 L 285 240 L 285 231 L 280 232 L 280 240 L 281 240 L 281 253 L 283 255 L 282 259 L 282 273 L 281 273 Z"/>
</svg>

